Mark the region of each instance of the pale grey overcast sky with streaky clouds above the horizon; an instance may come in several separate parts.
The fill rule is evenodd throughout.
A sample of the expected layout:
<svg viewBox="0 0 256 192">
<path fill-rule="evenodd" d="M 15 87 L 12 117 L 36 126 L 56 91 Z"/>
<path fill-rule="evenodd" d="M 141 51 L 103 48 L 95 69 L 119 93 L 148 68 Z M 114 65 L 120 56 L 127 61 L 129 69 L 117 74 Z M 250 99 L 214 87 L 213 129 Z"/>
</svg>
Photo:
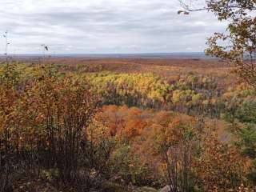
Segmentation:
<svg viewBox="0 0 256 192">
<path fill-rule="evenodd" d="M 178 0 L 0 0 L 0 32 L 17 54 L 42 43 L 55 54 L 123 54 L 203 51 L 225 29 L 213 14 L 180 9 Z"/>
</svg>

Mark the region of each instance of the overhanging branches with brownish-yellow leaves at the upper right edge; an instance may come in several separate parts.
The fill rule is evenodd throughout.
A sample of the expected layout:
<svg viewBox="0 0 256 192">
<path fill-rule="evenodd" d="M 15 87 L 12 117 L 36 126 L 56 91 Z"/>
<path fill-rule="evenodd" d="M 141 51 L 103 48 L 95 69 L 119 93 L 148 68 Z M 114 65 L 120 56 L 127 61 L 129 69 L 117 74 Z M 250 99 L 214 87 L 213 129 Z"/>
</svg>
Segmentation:
<svg viewBox="0 0 256 192">
<path fill-rule="evenodd" d="M 229 24 L 225 34 L 215 33 L 208 39 L 206 53 L 236 64 L 238 74 L 255 86 L 256 2 L 214 0 L 209 1 L 207 7 L 219 20 L 226 20 Z"/>
</svg>

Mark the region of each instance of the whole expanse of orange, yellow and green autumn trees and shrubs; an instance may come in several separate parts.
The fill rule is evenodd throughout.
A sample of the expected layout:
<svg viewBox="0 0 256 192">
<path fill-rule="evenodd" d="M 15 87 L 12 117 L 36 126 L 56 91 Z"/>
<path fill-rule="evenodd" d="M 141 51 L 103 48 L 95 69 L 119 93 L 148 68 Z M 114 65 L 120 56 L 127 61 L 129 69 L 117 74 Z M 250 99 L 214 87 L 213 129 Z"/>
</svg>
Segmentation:
<svg viewBox="0 0 256 192">
<path fill-rule="evenodd" d="M 180 3 L 229 22 L 211 58 L 18 57 L 4 34 L 0 192 L 256 190 L 256 2 Z"/>
</svg>

